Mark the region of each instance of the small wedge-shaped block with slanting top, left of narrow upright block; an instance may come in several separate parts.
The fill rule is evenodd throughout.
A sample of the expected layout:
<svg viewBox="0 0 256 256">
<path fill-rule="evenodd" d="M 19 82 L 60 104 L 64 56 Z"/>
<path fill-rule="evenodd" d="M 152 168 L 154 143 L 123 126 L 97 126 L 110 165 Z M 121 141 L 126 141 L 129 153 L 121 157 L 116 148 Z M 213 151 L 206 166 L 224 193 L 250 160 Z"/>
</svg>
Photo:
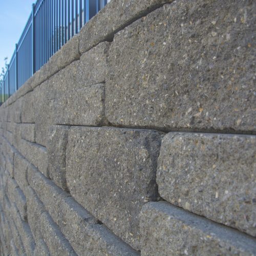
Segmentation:
<svg viewBox="0 0 256 256">
<path fill-rule="evenodd" d="M 48 160 L 46 147 L 36 143 L 22 139 L 22 146 L 20 147 L 20 153 L 39 171 L 46 177 L 49 177 L 48 173 Z"/>
</svg>

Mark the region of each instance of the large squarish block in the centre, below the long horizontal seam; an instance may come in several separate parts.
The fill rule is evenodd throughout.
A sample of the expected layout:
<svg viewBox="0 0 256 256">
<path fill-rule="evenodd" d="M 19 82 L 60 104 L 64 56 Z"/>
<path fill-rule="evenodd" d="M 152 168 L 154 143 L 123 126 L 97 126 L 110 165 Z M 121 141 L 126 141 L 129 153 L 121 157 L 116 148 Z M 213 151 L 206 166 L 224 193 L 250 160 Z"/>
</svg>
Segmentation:
<svg viewBox="0 0 256 256">
<path fill-rule="evenodd" d="M 111 127 L 69 132 L 66 177 L 71 195 L 135 249 L 138 214 L 158 197 L 155 183 L 161 134 Z"/>
</svg>

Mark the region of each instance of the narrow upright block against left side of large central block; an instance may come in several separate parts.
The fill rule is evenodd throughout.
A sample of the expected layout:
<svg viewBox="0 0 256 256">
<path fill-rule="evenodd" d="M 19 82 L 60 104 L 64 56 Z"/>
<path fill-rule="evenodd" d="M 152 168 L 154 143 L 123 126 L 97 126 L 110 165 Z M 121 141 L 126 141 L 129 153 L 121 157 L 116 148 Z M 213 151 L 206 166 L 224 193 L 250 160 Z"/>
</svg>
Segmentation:
<svg viewBox="0 0 256 256">
<path fill-rule="evenodd" d="M 56 185 L 67 190 L 66 148 L 70 126 L 51 126 L 47 143 L 48 171 Z"/>
</svg>

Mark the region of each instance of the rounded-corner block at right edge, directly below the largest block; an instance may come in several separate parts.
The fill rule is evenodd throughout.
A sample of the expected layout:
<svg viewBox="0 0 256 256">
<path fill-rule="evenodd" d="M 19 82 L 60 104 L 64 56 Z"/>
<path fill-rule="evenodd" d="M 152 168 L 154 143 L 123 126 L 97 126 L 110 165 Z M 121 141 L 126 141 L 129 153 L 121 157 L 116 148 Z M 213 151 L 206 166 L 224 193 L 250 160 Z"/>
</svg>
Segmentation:
<svg viewBox="0 0 256 256">
<path fill-rule="evenodd" d="M 162 198 L 256 236 L 256 136 L 168 133 L 158 159 Z"/>
</svg>

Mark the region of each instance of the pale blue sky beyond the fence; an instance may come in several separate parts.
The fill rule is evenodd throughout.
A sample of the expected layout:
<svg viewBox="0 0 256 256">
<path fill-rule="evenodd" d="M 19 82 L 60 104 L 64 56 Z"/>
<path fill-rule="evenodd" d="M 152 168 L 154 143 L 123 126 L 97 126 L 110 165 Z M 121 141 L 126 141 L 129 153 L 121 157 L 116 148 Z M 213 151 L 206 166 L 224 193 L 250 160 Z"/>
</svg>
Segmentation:
<svg viewBox="0 0 256 256">
<path fill-rule="evenodd" d="M 4 58 L 11 60 L 23 29 L 36 0 L 0 0 L 0 69 L 4 67 Z M 0 70 L 0 71 L 1 71 Z"/>
</svg>

